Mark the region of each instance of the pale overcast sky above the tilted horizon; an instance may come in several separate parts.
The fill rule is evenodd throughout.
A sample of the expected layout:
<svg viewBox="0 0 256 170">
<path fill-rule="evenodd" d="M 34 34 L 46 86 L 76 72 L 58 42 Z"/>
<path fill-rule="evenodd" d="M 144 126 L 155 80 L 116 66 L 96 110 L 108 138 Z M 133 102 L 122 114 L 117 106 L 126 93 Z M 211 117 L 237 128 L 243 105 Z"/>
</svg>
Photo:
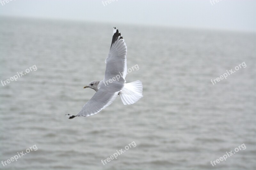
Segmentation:
<svg viewBox="0 0 256 170">
<path fill-rule="evenodd" d="M 4 5 L 0 4 L 0 16 L 256 32 L 256 0 L 211 0 L 212 3 L 210 0 L 1 1 Z"/>
</svg>

